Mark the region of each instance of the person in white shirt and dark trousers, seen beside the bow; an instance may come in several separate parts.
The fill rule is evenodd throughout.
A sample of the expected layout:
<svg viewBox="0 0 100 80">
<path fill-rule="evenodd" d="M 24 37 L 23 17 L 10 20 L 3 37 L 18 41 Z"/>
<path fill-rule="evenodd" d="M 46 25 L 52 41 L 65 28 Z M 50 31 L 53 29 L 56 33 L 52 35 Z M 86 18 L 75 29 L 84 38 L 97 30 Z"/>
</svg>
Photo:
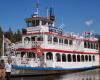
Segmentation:
<svg viewBox="0 0 100 80">
<path fill-rule="evenodd" d="M 10 76 L 11 76 L 11 69 L 12 69 L 12 60 L 7 61 L 7 63 L 5 64 L 5 70 L 6 70 L 6 80 L 10 80 Z"/>
</svg>

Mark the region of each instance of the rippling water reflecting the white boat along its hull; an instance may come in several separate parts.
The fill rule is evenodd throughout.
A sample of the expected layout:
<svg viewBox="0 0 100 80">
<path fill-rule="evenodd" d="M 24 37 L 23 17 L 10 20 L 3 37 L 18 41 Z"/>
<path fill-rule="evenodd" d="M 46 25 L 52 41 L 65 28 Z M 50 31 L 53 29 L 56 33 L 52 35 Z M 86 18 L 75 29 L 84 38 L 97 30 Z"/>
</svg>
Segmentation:
<svg viewBox="0 0 100 80">
<path fill-rule="evenodd" d="M 100 69 L 65 74 L 65 75 L 19 77 L 19 78 L 12 78 L 11 80 L 100 80 Z"/>
</svg>

